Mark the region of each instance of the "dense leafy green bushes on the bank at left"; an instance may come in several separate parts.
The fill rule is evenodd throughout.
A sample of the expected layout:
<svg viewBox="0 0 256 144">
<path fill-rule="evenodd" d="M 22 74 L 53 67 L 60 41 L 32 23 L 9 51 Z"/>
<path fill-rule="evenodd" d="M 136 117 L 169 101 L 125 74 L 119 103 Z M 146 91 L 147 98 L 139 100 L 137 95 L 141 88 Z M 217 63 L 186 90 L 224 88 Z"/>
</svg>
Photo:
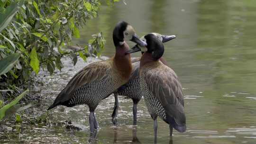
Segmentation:
<svg viewBox="0 0 256 144">
<path fill-rule="evenodd" d="M 114 1 L 119 0 L 107 3 Z M 18 96 L 40 69 L 52 74 L 62 70 L 64 56 L 75 65 L 78 56 L 86 61 L 101 54 L 101 32 L 88 45 L 67 48 L 74 47 L 72 37 L 80 37 L 79 28 L 98 16 L 100 5 L 99 0 L 0 0 L 0 119 L 25 95 L 27 90 Z"/>
</svg>

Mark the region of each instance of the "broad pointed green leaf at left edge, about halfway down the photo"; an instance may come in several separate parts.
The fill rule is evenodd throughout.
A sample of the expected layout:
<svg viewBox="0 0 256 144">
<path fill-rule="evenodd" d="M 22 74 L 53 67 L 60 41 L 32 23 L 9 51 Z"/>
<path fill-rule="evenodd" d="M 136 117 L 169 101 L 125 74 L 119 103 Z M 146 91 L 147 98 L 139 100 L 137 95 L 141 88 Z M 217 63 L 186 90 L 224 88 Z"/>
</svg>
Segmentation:
<svg viewBox="0 0 256 144">
<path fill-rule="evenodd" d="M 18 61 L 19 56 L 20 54 L 17 53 L 10 54 L 9 56 L 0 60 L 0 75 L 9 72 Z"/>
</svg>

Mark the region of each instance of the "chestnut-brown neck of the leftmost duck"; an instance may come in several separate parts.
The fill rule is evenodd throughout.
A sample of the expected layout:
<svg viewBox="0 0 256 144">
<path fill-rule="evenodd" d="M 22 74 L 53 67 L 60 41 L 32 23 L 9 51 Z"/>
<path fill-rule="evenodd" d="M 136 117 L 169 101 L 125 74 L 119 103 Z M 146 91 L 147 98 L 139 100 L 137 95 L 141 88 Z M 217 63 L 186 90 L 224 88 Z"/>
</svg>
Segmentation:
<svg viewBox="0 0 256 144">
<path fill-rule="evenodd" d="M 132 71 L 131 55 L 126 54 L 129 46 L 124 42 L 123 45 L 116 46 L 116 54 L 114 56 L 114 63 L 121 76 L 128 79 Z"/>
</svg>

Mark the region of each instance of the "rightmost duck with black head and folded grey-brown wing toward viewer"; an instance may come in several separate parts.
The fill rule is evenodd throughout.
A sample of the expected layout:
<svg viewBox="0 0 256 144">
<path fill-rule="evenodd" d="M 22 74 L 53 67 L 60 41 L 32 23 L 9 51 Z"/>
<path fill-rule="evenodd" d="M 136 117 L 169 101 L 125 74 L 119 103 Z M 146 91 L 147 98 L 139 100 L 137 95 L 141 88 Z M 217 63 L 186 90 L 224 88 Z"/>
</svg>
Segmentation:
<svg viewBox="0 0 256 144">
<path fill-rule="evenodd" d="M 154 120 L 156 142 L 157 117 L 169 124 L 170 136 L 173 128 L 186 131 L 186 117 L 182 85 L 176 73 L 160 61 L 165 51 L 163 43 L 153 34 L 146 35 L 145 40 L 147 46 L 142 49 L 145 53 L 140 59 L 139 81 L 146 107 Z M 127 54 L 137 51 L 141 48 L 136 45 Z"/>
</svg>

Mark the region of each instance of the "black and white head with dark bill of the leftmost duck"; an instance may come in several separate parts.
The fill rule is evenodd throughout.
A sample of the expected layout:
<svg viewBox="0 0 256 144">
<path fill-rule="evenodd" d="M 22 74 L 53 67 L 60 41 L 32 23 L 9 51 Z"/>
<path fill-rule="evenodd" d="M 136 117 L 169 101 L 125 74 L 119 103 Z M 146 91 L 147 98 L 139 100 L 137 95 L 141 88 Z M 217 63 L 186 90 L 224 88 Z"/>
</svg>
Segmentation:
<svg viewBox="0 0 256 144">
<path fill-rule="evenodd" d="M 143 42 L 138 38 L 131 25 L 125 21 L 120 21 L 113 31 L 114 45 L 124 45 L 125 40 L 132 41 L 141 46 L 146 46 L 146 42 Z"/>
</svg>

